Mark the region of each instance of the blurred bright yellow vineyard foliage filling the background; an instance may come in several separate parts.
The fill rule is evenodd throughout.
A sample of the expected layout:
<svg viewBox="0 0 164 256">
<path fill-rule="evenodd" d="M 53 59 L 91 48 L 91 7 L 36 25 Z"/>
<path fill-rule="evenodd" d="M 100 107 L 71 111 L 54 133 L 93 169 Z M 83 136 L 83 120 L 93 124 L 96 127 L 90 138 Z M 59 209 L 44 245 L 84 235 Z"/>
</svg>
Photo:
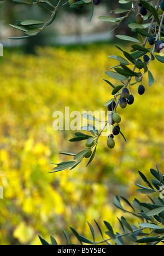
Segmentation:
<svg viewBox="0 0 164 256">
<path fill-rule="evenodd" d="M 84 141 L 68 142 L 73 131 L 52 129 L 52 114 L 64 112 L 65 106 L 81 113 L 106 110 L 104 103 L 110 100 L 112 88 L 103 81 L 108 79 L 104 72 L 117 65 L 107 57 L 116 54 L 120 53 L 110 44 L 38 48 L 36 56 L 5 51 L 0 63 L 2 245 L 38 245 L 38 235 L 48 241 L 52 235 L 64 243 L 62 228 L 69 233 L 73 226 L 86 235 L 86 222 L 93 224 L 93 219 L 101 226 L 107 220 L 119 229 L 116 216 L 121 213 L 113 206 L 113 196 L 130 200 L 140 196 L 134 185 L 138 170 L 149 173 L 157 164 L 162 172 L 163 66 L 154 61 L 150 70 L 157 82 L 149 87 L 145 75 L 145 94 L 138 95 L 134 85 L 134 104 L 118 108 L 127 143 L 119 135 L 115 148 L 109 150 L 107 138 L 102 137 L 87 168 L 84 161 L 72 171 L 48 174 L 54 167 L 51 162 L 71 159 L 58 152 L 77 153 L 85 148 Z"/>
</svg>

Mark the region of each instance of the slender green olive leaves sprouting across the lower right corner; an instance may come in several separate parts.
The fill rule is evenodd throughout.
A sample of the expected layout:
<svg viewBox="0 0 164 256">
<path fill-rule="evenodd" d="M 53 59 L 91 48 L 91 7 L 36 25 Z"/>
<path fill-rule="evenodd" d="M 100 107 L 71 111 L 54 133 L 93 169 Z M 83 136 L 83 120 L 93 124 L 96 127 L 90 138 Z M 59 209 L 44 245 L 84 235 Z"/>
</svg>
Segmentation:
<svg viewBox="0 0 164 256">
<path fill-rule="evenodd" d="M 77 245 L 79 245 L 79 243 L 81 245 L 100 245 L 104 243 L 107 243 L 107 245 L 157 245 L 161 243 L 162 245 L 162 243 L 164 243 L 164 175 L 160 173 L 158 168 L 157 171 L 151 169 L 150 172 L 154 177 L 154 179 L 151 180 L 151 183 L 142 172 L 138 172 L 140 177 L 147 184 L 147 187 L 136 183 L 139 188 L 136 191 L 142 194 L 159 193 L 159 197 L 154 197 L 153 199 L 148 196 L 151 203 L 140 202 L 136 198 L 133 200 L 133 203 L 130 203 L 127 199 L 120 196 L 121 200 L 131 207 L 132 211 L 130 212 L 122 207 L 118 196 L 114 197 L 114 205 L 122 212 L 133 214 L 133 216 L 138 219 L 138 225 L 130 225 L 124 217 L 121 217 L 120 219 L 118 218 L 121 225 L 121 232 L 115 233 L 112 226 L 104 221 L 104 225 L 106 225 L 107 228 L 106 235 L 109 236 L 109 238 L 105 239 L 100 226 L 95 220 L 98 231 L 102 236 L 102 241 L 96 241 L 93 226 L 88 222 L 87 224 L 90 227 L 93 238 L 92 241 L 81 236 L 75 229 L 71 228 L 73 235 L 77 238 Z M 68 245 L 75 245 L 71 243 L 69 236 L 64 229 L 63 233 Z M 58 245 L 56 239 L 52 236 L 50 237 L 51 243 L 40 236 L 39 238 L 42 245 Z"/>
</svg>

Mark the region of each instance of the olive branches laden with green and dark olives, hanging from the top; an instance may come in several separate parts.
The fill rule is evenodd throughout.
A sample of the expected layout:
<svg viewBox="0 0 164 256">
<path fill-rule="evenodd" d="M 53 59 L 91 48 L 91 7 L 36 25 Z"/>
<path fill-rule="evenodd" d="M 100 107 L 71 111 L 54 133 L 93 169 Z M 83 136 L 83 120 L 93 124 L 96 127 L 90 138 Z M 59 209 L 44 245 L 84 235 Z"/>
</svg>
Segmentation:
<svg viewBox="0 0 164 256">
<path fill-rule="evenodd" d="M 37 4 L 40 8 L 49 11 L 51 15 L 44 21 L 41 20 L 24 20 L 17 21 L 16 25 L 11 25 L 14 28 L 24 31 L 26 36 L 12 39 L 21 39 L 31 36 L 36 36 L 40 31 L 43 30 L 45 26 L 49 26 L 56 18 L 57 10 L 61 5 L 61 0 L 58 1 L 57 5 L 54 6 L 50 1 L 36 1 L 36 0 L 15 0 L 16 3 L 21 4 Z M 68 3 L 71 8 L 81 9 L 83 5 L 97 5 L 100 1 L 91 0 L 69 0 Z M 117 113 L 118 107 L 126 108 L 127 104 L 131 105 L 134 102 L 134 96 L 131 94 L 131 86 L 138 86 L 138 94 L 143 95 L 145 92 L 145 85 L 143 85 L 143 77 L 148 74 L 148 84 L 151 86 L 155 82 L 155 78 L 150 71 L 150 63 L 155 59 L 161 63 L 164 63 L 164 57 L 162 56 L 162 51 L 164 49 L 164 1 L 159 0 L 155 5 L 153 1 L 125 1 L 120 0 L 120 4 L 125 6 L 125 8 L 117 8 L 116 10 L 111 10 L 110 16 L 99 16 L 99 20 L 107 21 L 114 26 L 114 31 L 122 21 L 124 21 L 131 13 L 136 15 L 136 22 L 128 24 L 128 27 L 134 32 L 134 36 L 116 35 L 120 40 L 125 40 L 127 42 L 132 42 L 130 53 L 122 49 L 122 47 L 116 45 L 116 48 L 120 50 L 120 55 L 110 55 L 109 57 L 116 60 L 116 66 L 110 68 L 106 72 L 109 78 L 115 79 L 115 84 L 111 83 L 110 80 L 105 80 L 112 87 L 112 98 L 104 104 L 107 106 L 108 110 L 111 112 L 109 117 L 112 119 L 112 123 L 109 123 L 109 119 L 101 131 L 98 131 L 95 125 L 88 124 L 87 126 L 81 127 L 81 130 L 89 132 L 88 134 L 82 132 L 76 132 L 75 137 L 71 138 L 69 141 L 86 141 L 86 148 L 77 154 L 72 153 L 60 153 L 63 155 L 73 156 L 73 160 L 64 161 L 56 164 L 54 171 L 58 172 L 70 168 L 72 170 L 84 158 L 88 158 L 89 165 L 96 155 L 96 149 L 98 145 L 99 138 L 102 132 L 108 125 L 113 126 L 112 133 L 109 134 L 107 138 L 107 146 L 112 149 L 115 147 L 114 136 L 121 135 L 126 142 L 125 135 L 121 131 L 120 121 L 121 117 Z M 131 8 L 129 8 L 129 3 Z M 47 7 L 48 6 L 48 7 Z M 128 8 L 127 8 L 128 6 Z M 112 14 L 115 14 L 114 16 Z M 116 15 L 119 14 L 117 18 Z M 120 17 L 122 14 L 122 17 Z M 93 9 L 92 14 L 93 15 Z M 112 32 L 110 31 L 110 32 Z M 137 35 L 137 38 L 136 38 Z M 147 44 L 149 43 L 149 45 Z M 137 70 L 136 70 L 137 69 Z M 87 120 L 96 121 L 95 117 L 89 114 L 84 114 L 84 118 Z"/>
</svg>

